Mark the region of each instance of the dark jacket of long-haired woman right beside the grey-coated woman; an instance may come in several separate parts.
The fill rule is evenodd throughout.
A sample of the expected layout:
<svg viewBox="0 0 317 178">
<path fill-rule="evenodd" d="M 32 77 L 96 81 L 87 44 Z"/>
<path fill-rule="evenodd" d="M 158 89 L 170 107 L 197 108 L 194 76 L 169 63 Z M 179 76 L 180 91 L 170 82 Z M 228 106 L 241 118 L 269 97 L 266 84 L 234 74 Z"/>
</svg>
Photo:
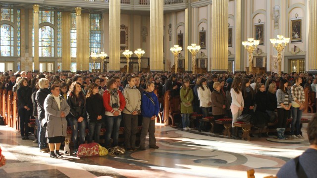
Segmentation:
<svg viewBox="0 0 317 178">
<path fill-rule="evenodd" d="M 67 103 L 70 106 L 69 117 L 78 119 L 79 117 L 86 118 L 86 99 L 77 98 L 72 93 L 67 95 Z M 80 105 L 79 105 L 80 104 Z"/>
</svg>

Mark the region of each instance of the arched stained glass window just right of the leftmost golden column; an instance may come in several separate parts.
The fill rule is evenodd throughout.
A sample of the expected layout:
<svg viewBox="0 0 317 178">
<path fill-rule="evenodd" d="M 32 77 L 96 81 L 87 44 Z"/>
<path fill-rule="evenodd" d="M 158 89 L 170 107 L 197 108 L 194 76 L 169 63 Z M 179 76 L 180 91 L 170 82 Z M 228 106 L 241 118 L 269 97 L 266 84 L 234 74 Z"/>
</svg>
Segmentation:
<svg viewBox="0 0 317 178">
<path fill-rule="evenodd" d="M 43 26 L 39 29 L 39 57 L 54 57 L 54 29 Z"/>
</svg>

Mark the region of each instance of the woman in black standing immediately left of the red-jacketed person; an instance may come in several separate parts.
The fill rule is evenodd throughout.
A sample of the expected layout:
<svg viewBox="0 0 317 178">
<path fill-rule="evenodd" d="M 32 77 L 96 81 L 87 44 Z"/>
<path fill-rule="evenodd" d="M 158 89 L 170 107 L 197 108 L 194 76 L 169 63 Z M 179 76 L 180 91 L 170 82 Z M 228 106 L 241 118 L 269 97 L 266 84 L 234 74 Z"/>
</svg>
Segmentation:
<svg viewBox="0 0 317 178">
<path fill-rule="evenodd" d="M 99 94 L 99 85 L 97 83 L 90 84 L 86 102 L 89 121 L 88 143 L 93 142 L 93 137 L 95 137 L 96 143 L 100 143 L 99 133 L 103 123 L 103 116 L 105 115 L 105 107 L 103 97 Z"/>
</svg>

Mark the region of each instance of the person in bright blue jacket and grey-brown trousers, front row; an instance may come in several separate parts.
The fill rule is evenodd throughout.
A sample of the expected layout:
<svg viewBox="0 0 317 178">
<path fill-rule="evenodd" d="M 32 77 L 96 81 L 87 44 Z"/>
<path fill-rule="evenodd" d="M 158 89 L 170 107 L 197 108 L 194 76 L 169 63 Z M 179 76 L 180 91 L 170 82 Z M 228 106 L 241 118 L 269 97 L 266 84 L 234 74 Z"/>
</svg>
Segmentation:
<svg viewBox="0 0 317 178">
<path fill-rule="evenodd" d="M 149 131 L 150 148 L 158 149 L 155 138 L 155 120 L 159 115 L 159 100 L 154 91 L 154 82 L 147 83 L 147 90 L 142 95 L 142 130 L 140 135 L 140 150 L 145 150 L 145 137 Z"/>
</svg>

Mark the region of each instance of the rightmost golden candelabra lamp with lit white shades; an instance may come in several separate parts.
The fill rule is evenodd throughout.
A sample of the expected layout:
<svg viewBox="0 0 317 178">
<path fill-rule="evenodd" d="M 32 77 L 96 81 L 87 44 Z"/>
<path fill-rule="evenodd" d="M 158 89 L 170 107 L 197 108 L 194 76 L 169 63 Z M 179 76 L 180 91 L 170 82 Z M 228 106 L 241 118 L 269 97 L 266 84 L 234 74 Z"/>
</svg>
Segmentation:
<svg viewBox="0 0 317 178">
<path fill-rule="evenodd" d="M 287 43 L 289 43 L 289 38 L 285 38 L 283 35 L 277 35 L 277 38 L 269 39 L 269 41 L 271 41 L 273 47 L 277 50 L 278 76 L 281 76 L 282 51 Z"/>
</svg>

